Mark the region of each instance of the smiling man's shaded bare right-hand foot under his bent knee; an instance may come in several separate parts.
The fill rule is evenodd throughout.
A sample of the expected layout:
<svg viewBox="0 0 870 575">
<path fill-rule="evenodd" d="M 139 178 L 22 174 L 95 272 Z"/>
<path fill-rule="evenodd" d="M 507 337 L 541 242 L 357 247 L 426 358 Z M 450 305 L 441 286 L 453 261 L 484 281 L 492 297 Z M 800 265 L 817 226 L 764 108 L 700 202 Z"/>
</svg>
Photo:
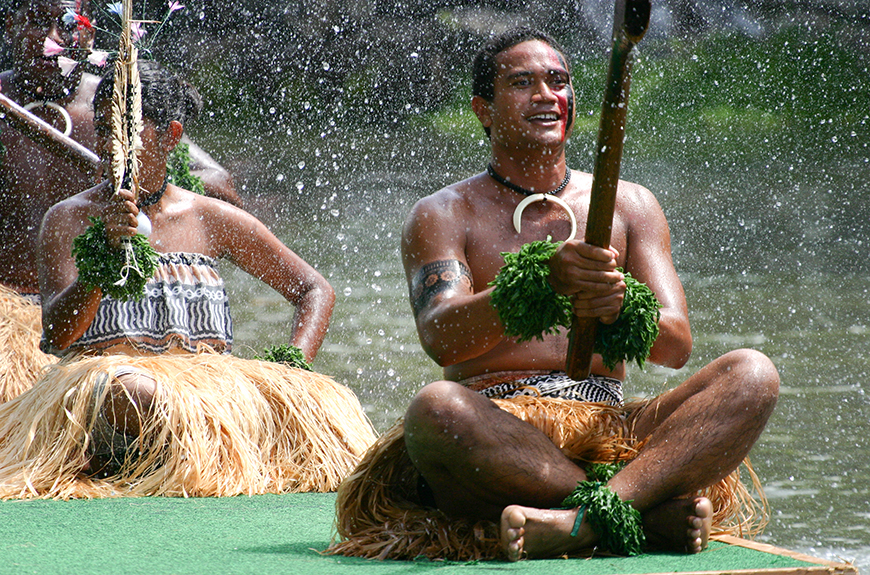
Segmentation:
<svg viewBox="0 0 870 575">
<path fill-rule="evenodd" d="M 706 497 L 671 499 L 643 514 L 649 545 L 689 554 L 707 548 L 712 524 L 713 504 Z"/>
</svg>

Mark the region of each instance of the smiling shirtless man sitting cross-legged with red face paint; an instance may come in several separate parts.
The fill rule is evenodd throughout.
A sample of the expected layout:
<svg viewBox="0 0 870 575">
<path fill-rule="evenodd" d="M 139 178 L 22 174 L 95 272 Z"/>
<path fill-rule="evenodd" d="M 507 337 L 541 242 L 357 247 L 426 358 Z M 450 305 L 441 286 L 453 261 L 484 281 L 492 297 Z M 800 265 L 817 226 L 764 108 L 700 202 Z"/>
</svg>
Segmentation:
<svg viewBox="0 0 870 575">
<path fill-rule="evenodd" d="M 506 338 L 487 284 L 504 263 L 502 252 L 548 236 L 566 238 L 568 217 L 555 202 L 537 202 L 525 210 L 517 233 L 512 215 L 523 195 L 496 178 L 547 192 L 568 174 L 557 195 L 583 230 L 592 176 L 566 172 L 573 92 L 566 58 L 546 35 L 514 30 L 488 42 L 475 60 L 473 94 L 495 175 L 484 172 L 423 198 L 403 232 L 417 330 L 445 377 L 411 402 L 405 444 L 439 509 L 500 521 L 502 550 L 511 560 L 557 556 L 598 541 L 586 520 L 570 534 L 577 509 L 553 510 L 587 479 L 584 470 L 467 384 L 495 372 L 522 377 L 564 370 L 566 363 L 564 332 L 526 343 Z M 549 261 L 550 284 L 572 298 L 575 314 L 608 323 L 618 317 L 626 288 L 617 268 L 630 272 L 663 306 L 650 361 L 682 367 L 692 346 L 686 301 L 668 224 L 649 190 L 620 182 L 611 241 L 609 249 L 580 240 L 562 244 Z M 625 366 L 608 371 L 595 356 L 592 373 L 622 379 Z M 695 494 L 748 454 L 778 387 L 771 361 L 744 349 L 716 359 L 644 410 L 635 429 L 646 444 L 608 487 L 641 513 L 648 542 L 688 553 L 706 546 L 712 504 Z"/>
</svg>

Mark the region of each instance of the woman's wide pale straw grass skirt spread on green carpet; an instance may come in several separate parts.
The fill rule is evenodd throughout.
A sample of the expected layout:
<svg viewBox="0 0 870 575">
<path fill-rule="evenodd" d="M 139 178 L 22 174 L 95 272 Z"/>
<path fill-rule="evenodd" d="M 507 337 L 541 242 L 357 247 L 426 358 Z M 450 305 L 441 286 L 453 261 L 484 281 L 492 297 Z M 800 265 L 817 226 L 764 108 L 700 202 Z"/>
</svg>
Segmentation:
<svg viewBox="0 0 870 575">
<path fill-rule="evenodd" d="M 119 367 L 157 393 L 117 475 L 85 477 Z M 333 491 L 374 442 L 351 390 L 283 364 L 199 353 L 64 360 L 0 406 L 0 498 Z"/>
</svg>

